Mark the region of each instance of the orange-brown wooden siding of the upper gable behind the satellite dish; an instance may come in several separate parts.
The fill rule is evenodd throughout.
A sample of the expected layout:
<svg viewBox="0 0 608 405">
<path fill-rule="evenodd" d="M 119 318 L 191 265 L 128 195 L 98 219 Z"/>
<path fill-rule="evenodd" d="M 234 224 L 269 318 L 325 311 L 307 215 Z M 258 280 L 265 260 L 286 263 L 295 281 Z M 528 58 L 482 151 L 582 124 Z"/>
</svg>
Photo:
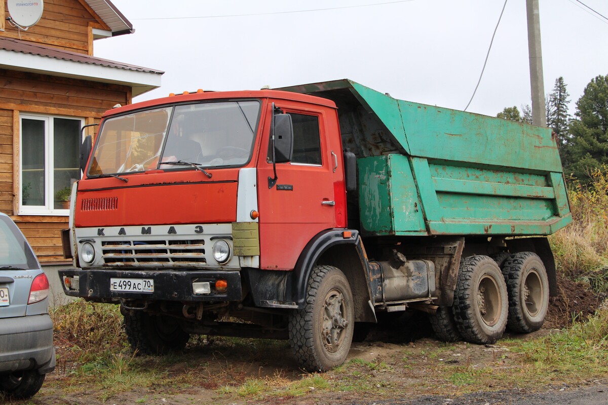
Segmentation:
<svg viewBox="0 0 608 405">
<path fill-rule="evenodd" d="M 4 14 L 9 15 L 6 7 Z M 6 22 L 0 36 L 92 55 L 91 27 L 108 29 L 92 10 L 78 0 L 46 0 L 43 15 L 35 26 L 23 31 Z"/>
</svg>

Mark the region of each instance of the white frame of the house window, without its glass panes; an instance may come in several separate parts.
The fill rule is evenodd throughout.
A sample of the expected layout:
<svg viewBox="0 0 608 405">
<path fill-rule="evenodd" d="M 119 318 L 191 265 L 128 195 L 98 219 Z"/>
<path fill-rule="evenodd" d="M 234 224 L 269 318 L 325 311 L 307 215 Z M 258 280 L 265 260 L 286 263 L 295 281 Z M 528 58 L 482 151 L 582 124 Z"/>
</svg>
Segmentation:
<svg viewBox="0 0 608 405">
<path fill-rule="evenodd" d="M 1 0 L 0 0 L 1 1 Z M 62 208 L 54 208 L 54 118 L 66 118 L 69 120 L 80 121 L 80 128 L 85 126 L 85 118 L 71 117 L 69 115 L 47 115 L 47 114 L 19 114 L 19 215 L 48 215 L 48 216 L 69 216 L 70 210 Z M 38 120 L 44 121 L 44 200 L 46 205 L 24 205 L 23 204 L 23 120 Z M 80 142 L 82 142 L 82 134 L 80 134 Z M 80 180 L 80 169 L 78 170 L 78 180 Z"/>
</svg>

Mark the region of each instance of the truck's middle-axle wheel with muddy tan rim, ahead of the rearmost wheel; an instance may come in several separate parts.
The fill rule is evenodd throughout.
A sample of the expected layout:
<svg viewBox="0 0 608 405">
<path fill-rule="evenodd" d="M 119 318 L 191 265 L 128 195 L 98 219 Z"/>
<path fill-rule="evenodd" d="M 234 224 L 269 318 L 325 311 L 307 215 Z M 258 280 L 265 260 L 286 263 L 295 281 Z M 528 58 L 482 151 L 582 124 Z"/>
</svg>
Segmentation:
<svg viewBox="0 0 608 405">
<path fill-rule="evenodd" d="M 454 291 L 454 319 L 465 340 L 488 344 L 505 332 L 508 298 L 505 279 L 494 260 L 471 256 L 460 262 Z"/>
</svg>

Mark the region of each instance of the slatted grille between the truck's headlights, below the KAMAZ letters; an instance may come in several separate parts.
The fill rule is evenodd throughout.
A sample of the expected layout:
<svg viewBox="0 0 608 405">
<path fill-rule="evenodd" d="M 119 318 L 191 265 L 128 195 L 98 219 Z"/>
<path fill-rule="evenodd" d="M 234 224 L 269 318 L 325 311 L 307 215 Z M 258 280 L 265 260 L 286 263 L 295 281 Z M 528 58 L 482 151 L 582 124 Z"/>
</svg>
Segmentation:
<svg viewBox="0 0 608 405">
<path fill-rule="evenodd" d="M 103 261 L 109 266 L 171 266 L 205 264 L 205 240 L 107 240 Z"/>
</svg>

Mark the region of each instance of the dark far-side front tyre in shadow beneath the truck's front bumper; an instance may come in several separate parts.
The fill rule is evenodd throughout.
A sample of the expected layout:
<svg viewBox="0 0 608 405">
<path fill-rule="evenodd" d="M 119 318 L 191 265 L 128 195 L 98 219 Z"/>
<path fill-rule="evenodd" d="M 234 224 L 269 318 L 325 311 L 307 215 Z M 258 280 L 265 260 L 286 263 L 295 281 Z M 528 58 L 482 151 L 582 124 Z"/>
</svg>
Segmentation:
<svg viewBox="0 0 608 405">
<path fill-rule="evenodd" d="M 126 337 L 135 351 L 147 355 L 164 355 L 184 349 L 190 335 L 177 319 L 150 315 L 144 311 L 125 311 Z"/>
</svg>

